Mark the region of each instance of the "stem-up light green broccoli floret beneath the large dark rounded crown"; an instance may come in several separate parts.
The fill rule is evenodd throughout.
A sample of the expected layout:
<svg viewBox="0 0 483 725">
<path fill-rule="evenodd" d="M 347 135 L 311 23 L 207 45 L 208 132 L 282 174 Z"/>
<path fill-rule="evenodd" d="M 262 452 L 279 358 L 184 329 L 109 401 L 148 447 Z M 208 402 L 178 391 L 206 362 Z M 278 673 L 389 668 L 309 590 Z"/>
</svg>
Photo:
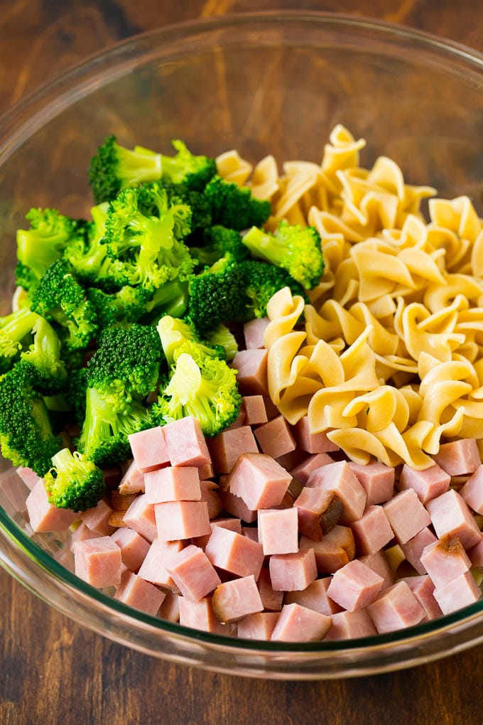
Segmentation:
<svg viewBox="0 0 483 725">
<path fill-rule="evenodd" d="M 118 406 L 119 408 L 119 406 Z M 132 400 L 114 410 L 112 403 L 88 388 L 85 395 L 85 420 L 76 440 L 87 460 L 106 468 L 125 460 L 130 455 L 130 434 L 151 426 L 151 417 L 144 405 Z"/>
</svg>

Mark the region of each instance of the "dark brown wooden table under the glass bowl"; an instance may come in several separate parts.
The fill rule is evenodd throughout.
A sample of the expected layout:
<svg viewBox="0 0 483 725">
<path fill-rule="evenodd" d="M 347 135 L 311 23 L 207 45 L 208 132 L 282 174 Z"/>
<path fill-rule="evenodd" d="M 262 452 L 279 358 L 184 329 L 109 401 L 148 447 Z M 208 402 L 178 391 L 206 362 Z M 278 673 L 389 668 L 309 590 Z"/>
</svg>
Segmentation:
<svg viewBox="0 0 483 725">
<path fill-rule="evenodd" d="M 64 67 L 147 28 L 253 9 L 365 14 L 483 50 L 481 0 L 0 0 L 0 112 Z M 109 642 L 0 572 L 0 723 L 483 723 L 481 650 L 395 674 L 270 682 L 175 666 Z"/>
</svg>

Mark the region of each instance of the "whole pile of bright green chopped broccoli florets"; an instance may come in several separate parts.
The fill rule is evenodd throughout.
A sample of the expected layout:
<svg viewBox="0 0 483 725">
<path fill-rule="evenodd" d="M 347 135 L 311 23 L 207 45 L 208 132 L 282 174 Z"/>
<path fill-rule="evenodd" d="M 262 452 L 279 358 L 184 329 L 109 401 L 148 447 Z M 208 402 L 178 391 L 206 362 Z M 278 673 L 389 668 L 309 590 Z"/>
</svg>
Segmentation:
<svg viewBox="0 0 483 725">
<path fill-rule="evenodd" d="M 75 219 L 32 208 L 17 231 L 15 311 L 0 318 L 0 446 L 75 511 L 104 495 L 129 436 L 194 415 L 216 436 L 240 412 L 241 326 L 324 269 L 313 228 L 264 223 L 269 202 L 215 159 L 127 149 L 108 136 Z"/>
</svg>

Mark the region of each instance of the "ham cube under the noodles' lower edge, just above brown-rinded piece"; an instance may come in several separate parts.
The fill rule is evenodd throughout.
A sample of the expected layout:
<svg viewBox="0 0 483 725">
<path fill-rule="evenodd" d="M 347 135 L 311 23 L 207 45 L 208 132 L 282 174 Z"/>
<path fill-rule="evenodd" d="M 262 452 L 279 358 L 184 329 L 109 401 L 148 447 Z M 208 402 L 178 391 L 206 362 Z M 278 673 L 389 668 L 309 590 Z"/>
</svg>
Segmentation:
<svg viewBox="0 0 483 725">
<path fill-rule="evenodd" d="M 308 476 L 307 486 L 333 491 L 343 502 L 340 521 L 344 524 L 357 521 L 364 513 L 366 492 L 345 460 L 316 468 Z"/>
</svg>

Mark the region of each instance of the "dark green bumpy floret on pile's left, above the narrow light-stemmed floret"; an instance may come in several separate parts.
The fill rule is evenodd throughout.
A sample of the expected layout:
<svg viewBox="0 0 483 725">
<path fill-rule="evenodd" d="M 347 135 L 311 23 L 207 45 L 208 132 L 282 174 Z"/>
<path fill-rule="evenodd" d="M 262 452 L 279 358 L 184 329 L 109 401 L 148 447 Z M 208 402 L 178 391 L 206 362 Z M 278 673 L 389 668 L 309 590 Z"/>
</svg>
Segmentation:
<svg viewBox="0 0 483 725">
<path fill-rule="evenodd" d="M 67 349 L 85 349 L 96 335 L 96 311 L 65 260 L 50 265 L 35 288 L 30 306 L 60 326 L 59 336 Z"/>
</svg>

